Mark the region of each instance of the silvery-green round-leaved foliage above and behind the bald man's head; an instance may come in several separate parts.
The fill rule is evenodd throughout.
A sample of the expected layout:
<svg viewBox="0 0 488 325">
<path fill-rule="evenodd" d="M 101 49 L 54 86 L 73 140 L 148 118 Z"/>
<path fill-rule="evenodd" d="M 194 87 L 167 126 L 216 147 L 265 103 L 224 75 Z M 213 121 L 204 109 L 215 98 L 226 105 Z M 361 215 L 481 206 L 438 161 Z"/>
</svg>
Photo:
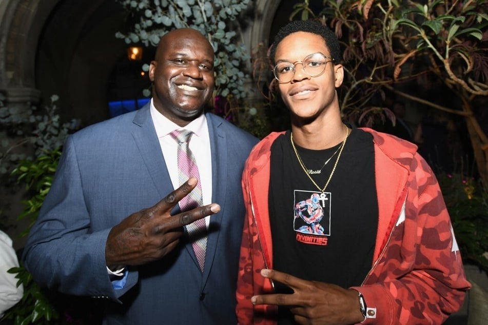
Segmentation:
<svg viewBox="0 0 488 325">
<path fill-rule="evenodd" d="M 133 31 L 116 37 L 127 44 L 142 43 L 157 46 L 161 36 L 174 28 L 190 27 L 200 31 L 216 52 L 216 95 L 243 98 L 247 92 L 243 72 L 249 55 L 240 35 L 238 18 L 247 9 L 250 0 L 117 0 L 138 23 Z"/>
</svg>

